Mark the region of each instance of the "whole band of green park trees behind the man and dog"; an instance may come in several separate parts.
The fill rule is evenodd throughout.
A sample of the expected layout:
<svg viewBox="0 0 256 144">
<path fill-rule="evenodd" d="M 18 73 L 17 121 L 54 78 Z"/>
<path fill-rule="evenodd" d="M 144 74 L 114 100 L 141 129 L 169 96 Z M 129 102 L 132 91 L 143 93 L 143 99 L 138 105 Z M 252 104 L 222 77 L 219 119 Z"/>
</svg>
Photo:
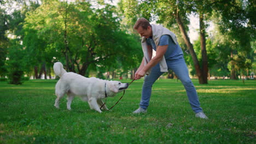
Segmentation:
<svg viewBox="0 0 256 144">
<path fill-rule="evenodd" d="M 254 1 L 120 0 L 115 7 L 107 1 L 15 0 L 4 6 L 0 10 L 1 77 L 15 75 L 10 71 L 19 68 L 16 63 L 21 74 L 47 78 L 56 61 L 84 76 L 134 72 L 143 56 L 132 29 L 138 17 L 176 33 L 190 74 L 197 75 L 200 83 L 208 83 L 210 75 L 237 79 L 255 67 Z M 196 41 L 188 36 L 191 14 L 199 17 Z M 211 34 L 206 32 L 209 22 L 215 25 Z"/>
</svg>

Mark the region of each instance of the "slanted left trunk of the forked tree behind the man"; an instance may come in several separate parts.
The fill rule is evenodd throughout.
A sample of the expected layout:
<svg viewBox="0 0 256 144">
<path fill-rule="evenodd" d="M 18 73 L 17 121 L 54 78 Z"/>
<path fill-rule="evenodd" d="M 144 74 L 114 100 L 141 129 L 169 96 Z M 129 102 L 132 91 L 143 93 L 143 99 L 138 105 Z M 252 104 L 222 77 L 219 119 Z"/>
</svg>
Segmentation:
<svg viewBox="0 0 256 144">
<path fill-rule="evenodd" d="M 193 59 L 195 70 L 196 70 L 196 75 L 198 76 L 199 83 L 200 84 L 205 84 L 204 81 L 203 81 L 202 71 L 201 71 L 198 59 L 196 57 L 195 50 L 193 48 L 193 45 L 190 43 L 188 34 L 187 34 L 186 30 L 185 30 L 185 27 L 184 27 L 184 24 L 183 24 L 183 22 L 181 20 L 181 17 L 179 17 L 178 9 L 177 9 L 177 13 L 176 13 L 176 21 L 178 23 L 179 30 L 182 33 L 182 37 L 183 37 L 183 39 L 185 41 L 185 44 L 188 47 L 189 53 L 190 53 L 190 55 L 191 55 L 191 57 Z"/>
</svg>

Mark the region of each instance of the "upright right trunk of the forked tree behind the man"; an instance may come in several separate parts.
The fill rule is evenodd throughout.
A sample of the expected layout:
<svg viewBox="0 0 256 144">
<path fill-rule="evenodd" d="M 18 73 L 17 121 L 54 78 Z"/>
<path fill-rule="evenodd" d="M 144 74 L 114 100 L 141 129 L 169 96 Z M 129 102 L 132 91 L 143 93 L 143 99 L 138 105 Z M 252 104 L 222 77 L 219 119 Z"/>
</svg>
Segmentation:
<svg viewBox="0 0 256 144">
<path fill-rule="evenodd" d="M 202 13 L 199 14 L 199 22 L 200 22 L 200 38 L 201 38 L 201 53 L 202 53 L 202 80 L 203 84 L 207 84 L 207 76 L 208 76 L 208 58 L 206 51 L 206 39 L 205 39 L 205 22 L 204 16 Z"/>
</svg>

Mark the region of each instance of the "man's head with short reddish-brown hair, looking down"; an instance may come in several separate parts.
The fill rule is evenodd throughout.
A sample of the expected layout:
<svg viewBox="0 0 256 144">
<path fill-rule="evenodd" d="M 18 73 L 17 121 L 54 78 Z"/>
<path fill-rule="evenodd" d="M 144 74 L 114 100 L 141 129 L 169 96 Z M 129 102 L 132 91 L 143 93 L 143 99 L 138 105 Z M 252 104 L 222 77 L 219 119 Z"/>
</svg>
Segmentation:
<svg viewBox="0 0 256 144">
<path fill-rule="evenodd" d="M 149 38 L 152 36 L 152 26 L 149 21 L 143 17 L 137 20 L 133 29 L 135 29 L 141 37 Z"/>
</svg>

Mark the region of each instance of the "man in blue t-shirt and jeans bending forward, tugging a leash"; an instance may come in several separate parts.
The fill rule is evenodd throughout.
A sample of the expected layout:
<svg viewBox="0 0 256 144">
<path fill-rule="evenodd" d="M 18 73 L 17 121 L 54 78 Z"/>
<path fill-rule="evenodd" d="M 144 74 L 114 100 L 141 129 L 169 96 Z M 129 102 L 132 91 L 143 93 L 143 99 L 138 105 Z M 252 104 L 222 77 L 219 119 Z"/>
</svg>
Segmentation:
<svg viewBox="0 0 256 144">
<path fill-rule="evenodd" d="M 138 19 L 133 29 L 142 37 L 141 43 L 144 53 L 141 65 L 135 73 L 135 80 L 141 79 L 147 74 L 144 77 L 139 108 L 133 113 L 147 112 L 153 83 L 164 72 L 171 69 L 182 81 L 195 116 L 207 118 L 200 107 L 196 89 L 190 80 L 188 68 L 176 35 L 161 25 L 150 25 L 149 21 L 144 18 Z M 152 58 L 153 49 L 156 51 L 156 56 Z"/>
</svg>

